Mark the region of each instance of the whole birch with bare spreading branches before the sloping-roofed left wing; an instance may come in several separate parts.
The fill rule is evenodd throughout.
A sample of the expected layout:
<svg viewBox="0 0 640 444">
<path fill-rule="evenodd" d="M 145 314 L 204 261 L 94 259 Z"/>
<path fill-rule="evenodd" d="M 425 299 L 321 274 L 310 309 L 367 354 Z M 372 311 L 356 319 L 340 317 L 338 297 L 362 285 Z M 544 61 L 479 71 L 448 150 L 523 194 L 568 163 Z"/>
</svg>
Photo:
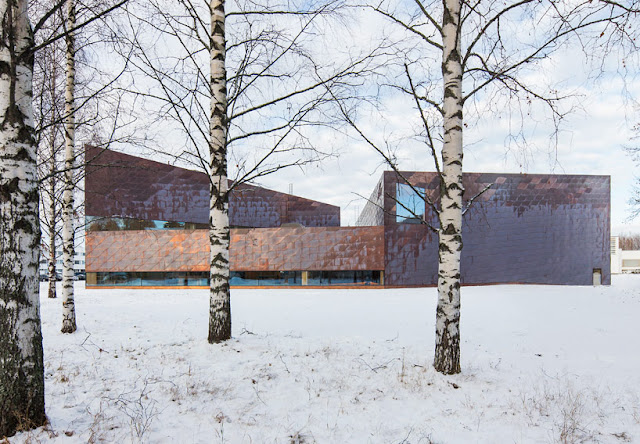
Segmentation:
<svg viewBox="0 0 640 444">
<path fill-rule="evenodd" d="M 384 50 L 321 63 L 311 44 L 316 22 L 337 8 L 333 2 L 130 5 L 135 19 L 120 51 L 132 54 L 130 63 L 152 81 L 131 91 L 147 114 L 157 116 L 153 123 L 171 121 L 184 140 L 173 151 L 166 139 L 150 148 L 210 177 L 212 343 L 231 337 L 229 193 L 240 183 L 330 155 L 313 131 L 336 123 L 334 96 L 348 95 L 373 69 L 374 52 Z M 157 50 L 167 47 L 170 54 Z"/>
</svg>

